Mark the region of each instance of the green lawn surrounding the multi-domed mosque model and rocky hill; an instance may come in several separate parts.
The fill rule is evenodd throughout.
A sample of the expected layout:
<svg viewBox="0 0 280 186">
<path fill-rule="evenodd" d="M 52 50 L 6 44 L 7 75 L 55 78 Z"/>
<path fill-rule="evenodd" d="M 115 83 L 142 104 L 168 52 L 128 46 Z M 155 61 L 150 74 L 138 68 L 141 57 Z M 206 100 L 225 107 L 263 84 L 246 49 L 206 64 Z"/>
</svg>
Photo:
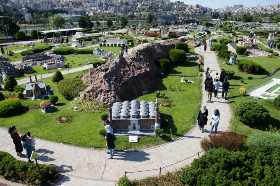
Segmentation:
<svg viewBox="0 0 280 186">
<path fill-rule="evenodd" d="M 188 66 L 185 67 L 173 67 L 173 70 L 184 70 L 185 75 L 189 71 L 185 71 Z M 64 75 L 64 78 L 73 78 L 76 74 L 82 75 L 86 72 L 76 72 L 73 74 Z M 162 138 L 157 138 L 154 136 L 144 136 L 140 137 L 138 143 L 127 143 L 128 149 L 143 149 L 146 147 L 159 145 L 170 141 L 170 129 L 172 129 L 173 138 L 178 138 L 189 131 L 191 127 L 191 119 L 193 124 L 196 123 L 196 115 L 200 109 L 199 100 L 201 100 L 200 91 L 201 78 L 191 77 L 188 78 L 194 83 L 180 82 L 181 77 L 177 76 L 167 76 L 165 78 L 160 78 L 156 85 L 156 90 L 161 93 L 165 93 L 166 98 L 172 101 L 171 107 L 161 107 L 160 112 L 162 113 L 163 119 L 168 120 L 168 125 L 164 128 L 166 132 Z M 101 113 L 83 113 L 73 111 L 70 108 L 70 101 L 65 100 L 59 93 L 57 85 L 51 81 L 51 78 L 42 79 L 45 84 L 50 84 L 50 87 L 54 89 L 53 95 L 57 95 L 59 101 L 57 103 L 58 110 L 51 113 L 42 113 L 39 109 L 30 110 L 25 113 L 15 114 L 12 116 L 0 118 L 1 125 L 8 128 L 12 125 L 16 125 L 18 131 L 23 133 L 23 127 L 26 131 L 30 131 L 37 138 L 44 140 L 60 142 L 59 134 L 62 136 L 64 144 L 69 144 L 73 146 L 80 146 L 85 148 L 91 148 L 90 138 L 92 138 L 93 146 L 95 149 L 104 149 L 105 141 L 104 138 L 98 134 L 99 130 L 104 129 L 101 123 L 100 115 Z M 180 91 L 170 91 L 170 85 L 180 86 Z M 24 86 L 24 85 L 20 85 Z M 2 93 L 7 93 L 3 91 Z M 156 97 L 154 92 L 143 95 L 140 97 L 135 97 L 132 99 L 138 99 L 139 101 L 155 101 Z M 159 102 L 161 102 L 161 98 Z M 30 99 L 23 99 L 22 104 L 24 106 L 31 106 L 39 104 L 41 101 L 30 101 Z M 69 109 L 68 109 L 69 108 Z M 181 112 L 184 114 L 181 114 Z M 107 113 L 105 111 L 104 113 Z M 60 124 L 56 122 L 56 117 L 69 113 L 71 121 L 65 124 Z M 20 121 L 20 122 L 19 122 Z M 184 125 L 183 125 L 184 124 Z M 181 126 L 182 125 L 182 126 Z M 177 128 L 178 127 L 178 128 Z M 77 139 L 82 138 L 82 139 Z M 126 136 L 118 136 L 117 141 L 115 141 L 116 149 L 125 149 L 125 141 L 128 141 Z"/>
</svg>

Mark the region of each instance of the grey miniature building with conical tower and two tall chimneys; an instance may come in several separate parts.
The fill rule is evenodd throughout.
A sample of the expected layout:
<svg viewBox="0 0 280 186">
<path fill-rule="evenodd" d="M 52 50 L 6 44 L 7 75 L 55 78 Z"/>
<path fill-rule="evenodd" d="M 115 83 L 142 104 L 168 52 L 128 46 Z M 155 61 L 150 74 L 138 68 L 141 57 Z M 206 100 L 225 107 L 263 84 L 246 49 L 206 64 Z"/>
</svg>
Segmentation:
<svg viewBox="0 0 280 186">
<path fill-rule="evenodd" d="M 26 91 L 26 97 L 33 97 L 34 99 L 40 99 L 42 98 L 41 95 L 47 94 L 47 91 L 50 90 L 49 85 L 45 85 L 43 81 L 37 81 L 37 76 L 35 76 L 36 82 L 32 82 L 31 76 L 30 83 L 25 84 L 25 91 Z"/>
</svg>

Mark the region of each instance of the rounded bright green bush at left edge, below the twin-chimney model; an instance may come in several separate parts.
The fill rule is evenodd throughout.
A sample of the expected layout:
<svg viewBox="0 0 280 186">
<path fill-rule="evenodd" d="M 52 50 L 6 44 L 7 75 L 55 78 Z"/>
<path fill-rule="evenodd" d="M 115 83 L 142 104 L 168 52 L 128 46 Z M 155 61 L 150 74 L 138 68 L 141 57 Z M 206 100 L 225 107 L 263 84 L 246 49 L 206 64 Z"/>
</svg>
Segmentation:
<svg viewBox="0 0 280 186">
<path fill-rule="evenodd" d="M 0 101 L 0 117 L 15 114 L 20 105 L 20 100 L 17 98 Z"/>
</svg>

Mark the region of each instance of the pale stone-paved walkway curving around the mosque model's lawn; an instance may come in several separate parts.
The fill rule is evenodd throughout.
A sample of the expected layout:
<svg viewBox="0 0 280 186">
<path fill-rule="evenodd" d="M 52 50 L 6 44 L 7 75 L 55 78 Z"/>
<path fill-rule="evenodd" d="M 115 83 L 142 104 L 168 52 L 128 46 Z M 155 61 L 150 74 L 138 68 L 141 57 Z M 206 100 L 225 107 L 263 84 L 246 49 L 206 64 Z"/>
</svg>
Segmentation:
<svg viewBox="0 0 280 186">
<path fill-rule="evenodd" d="M 198 48 L 194 49 L 198 52 Z M 206 52 L 201 52 L 204 56 L 204 69 L 210 68 L 211 74 L 220 73 L 219 65 L 214 52 L 210 47 Z M 180 81 L 181 77 L 178 77 Z M 221 86 L 220 86 L 221 88 Z M 221 90 L 218 91 L 219 98 L 212 98 L 211 103 L 206 102 L 206 92 L 203 91 L 202 104 L 207 105 L 209 111 L 208 119 L 215 109 L 219 109 L 221 114 L 218 131 L 227 131 L 231 111 L 227 101 L 221 98 Z M 197 113 L 198 114 L 198 113 Z M 114 159 L 108 160 L 107 151 L 97 151 L 68 146 L 60 143 L 36 140 L 36 152 L 40 155 L 37 159 L 40 164 L 50 164 L 57 166 L 64 178 L 57 185 L 115 185 L 120 177 L 126 172 L 129 179 L 142 179 L 147 176 L 159 175 L 167 171 L 175 171 L 185 165 L 190 164 L 194 158 L 198 158 L 201 152 L 200 141 L 208 137 L 210 125 L 205 126 L 205 132 L 201 133 L 198 127 L 194 127 L 188 134 L 165 143 L 139 151 L 116 151 Z M 16 156 L 14 144 L 5 129 L 0 129 L 0 150 L 14 155 L 17 159 L 27 161 Z M 104 143 L 105 147 L 105 143 Z M 202 155 L 203 153 L 200 153 Z M 151 170 L 151 171 L 145 171 Z M 143 172 L 137 172 L 143 171 Z"/>
</svg>

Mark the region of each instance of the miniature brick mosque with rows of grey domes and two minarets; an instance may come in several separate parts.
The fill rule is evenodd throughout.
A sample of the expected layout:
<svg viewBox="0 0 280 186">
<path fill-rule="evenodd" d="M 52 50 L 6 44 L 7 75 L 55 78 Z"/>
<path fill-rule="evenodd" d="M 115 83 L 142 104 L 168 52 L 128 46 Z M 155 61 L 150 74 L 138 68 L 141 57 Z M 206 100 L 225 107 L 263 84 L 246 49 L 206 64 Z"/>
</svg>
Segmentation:
<svg viewBox="0 0 280 186">
<path fill-rule="evenodd" d="M 109 121 L 114 131 L 128 133 L 154 132 L 160 128 L 158 100 L 156 102 L 132 100 L 116 102 L 109 100 Z"/>
</svg>

